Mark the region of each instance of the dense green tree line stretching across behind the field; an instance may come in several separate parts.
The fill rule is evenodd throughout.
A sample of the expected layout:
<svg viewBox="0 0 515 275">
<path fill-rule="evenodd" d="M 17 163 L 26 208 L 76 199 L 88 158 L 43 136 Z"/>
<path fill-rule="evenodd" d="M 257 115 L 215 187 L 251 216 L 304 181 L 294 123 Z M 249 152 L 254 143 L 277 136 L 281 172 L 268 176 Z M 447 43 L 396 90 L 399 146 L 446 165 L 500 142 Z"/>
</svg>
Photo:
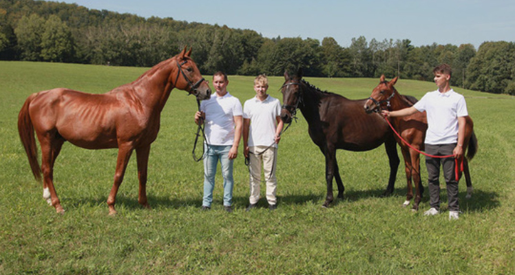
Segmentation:
<svg viewBox="0 0 515 275">
<path fill-rule="evenodd" d="M 515 94 L 515 43 L 485 42 L 414 47 L 409 39 L 353 38 L 341 47 L 321 41 L 266 38 L 253 30 L 173 18 L 90 10 L 76 4 L 0 0 L 0 60 L 151 67 L 193 47 L 204 74 L 281 76 L 302 67 L 305 76 L 432 81 L 432 68 L 448 63 L 456 87 Z"/>
</svg>

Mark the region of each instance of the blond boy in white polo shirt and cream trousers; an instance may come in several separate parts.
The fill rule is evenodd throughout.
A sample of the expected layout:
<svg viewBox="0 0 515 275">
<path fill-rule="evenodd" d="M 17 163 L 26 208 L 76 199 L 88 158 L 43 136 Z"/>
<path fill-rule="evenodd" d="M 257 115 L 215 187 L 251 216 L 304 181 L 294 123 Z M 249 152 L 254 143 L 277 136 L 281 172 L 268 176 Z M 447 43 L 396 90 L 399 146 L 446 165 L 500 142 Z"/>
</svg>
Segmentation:
<svg viewBox="0 0 515 275">
<path fill-rule="evenodd" d="M 246 100 L 243 107 L 244 155 L 249 159 L 251 190 L 247 210 L 255 208 L 260 199 L 261 162 L 269 209 L 275 210 L 277 207 L 275 168 L 283 122 L 280 119 L 281 102 L 266 94 L 268 89 L 268 78 L 260 74 L 254 79 L 255 97 Z"/>
</svg>

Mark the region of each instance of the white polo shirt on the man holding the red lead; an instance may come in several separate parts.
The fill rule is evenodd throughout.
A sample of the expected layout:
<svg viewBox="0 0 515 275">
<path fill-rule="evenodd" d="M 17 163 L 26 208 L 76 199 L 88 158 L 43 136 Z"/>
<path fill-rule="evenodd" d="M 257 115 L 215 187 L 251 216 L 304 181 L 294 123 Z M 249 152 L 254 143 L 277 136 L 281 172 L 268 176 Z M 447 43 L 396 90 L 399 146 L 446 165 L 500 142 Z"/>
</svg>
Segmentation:
<svg viewBox="0 0 515 275">
<path fill-rule="evenodd" d="M 430 91 L 413 105 L 428 115 L 426 144 L 453 144 L 458 142 L 458 118 L 467 116 L 465 98 L 450 89 L 445 93 Z"/>
</svg>

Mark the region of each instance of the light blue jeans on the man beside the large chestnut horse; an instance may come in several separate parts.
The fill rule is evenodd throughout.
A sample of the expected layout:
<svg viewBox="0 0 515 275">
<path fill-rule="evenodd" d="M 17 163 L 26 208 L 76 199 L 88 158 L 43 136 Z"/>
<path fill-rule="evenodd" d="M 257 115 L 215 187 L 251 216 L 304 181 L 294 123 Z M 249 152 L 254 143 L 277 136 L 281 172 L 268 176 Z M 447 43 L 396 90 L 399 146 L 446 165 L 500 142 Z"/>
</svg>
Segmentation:
<svg viewBox="0 0 515 275">
<path fill-rule="evenodd" d="M 204 157 L 204 199 L 202 206 L 211 207 L 213 189 L 215 188 L 216 166 L 220 160 L 222 177 L 224 178 L 224 206 L 233 203 L 233 159 L 229 159 L 232 146 L 207 145 Z"/>
</svg>

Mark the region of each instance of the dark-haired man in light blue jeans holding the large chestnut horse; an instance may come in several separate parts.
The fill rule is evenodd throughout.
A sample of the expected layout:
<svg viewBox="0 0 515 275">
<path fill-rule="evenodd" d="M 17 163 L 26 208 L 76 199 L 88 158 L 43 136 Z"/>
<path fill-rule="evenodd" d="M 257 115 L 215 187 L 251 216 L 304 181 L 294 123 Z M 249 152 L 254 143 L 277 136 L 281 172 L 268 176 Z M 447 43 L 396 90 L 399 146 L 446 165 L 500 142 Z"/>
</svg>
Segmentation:
<svg viewBox="0 0 515 275">
<path fill-rule="evenodd" d="M 202 100 L 200 111 L 195 113 L 195 123 L 205 123 L 206 150 L 204 155 L 204 198 L 202 210 L 211 209 L 215 188 L 216 166 L 220 161 L 224 178 L 224 209 L 233 212 L 233 159 L 238 156 L 242 137 L 242 104 L 227 91 L 229 80 L 224 72 L 213 75 L 216 94 Z"/>
</svg>

